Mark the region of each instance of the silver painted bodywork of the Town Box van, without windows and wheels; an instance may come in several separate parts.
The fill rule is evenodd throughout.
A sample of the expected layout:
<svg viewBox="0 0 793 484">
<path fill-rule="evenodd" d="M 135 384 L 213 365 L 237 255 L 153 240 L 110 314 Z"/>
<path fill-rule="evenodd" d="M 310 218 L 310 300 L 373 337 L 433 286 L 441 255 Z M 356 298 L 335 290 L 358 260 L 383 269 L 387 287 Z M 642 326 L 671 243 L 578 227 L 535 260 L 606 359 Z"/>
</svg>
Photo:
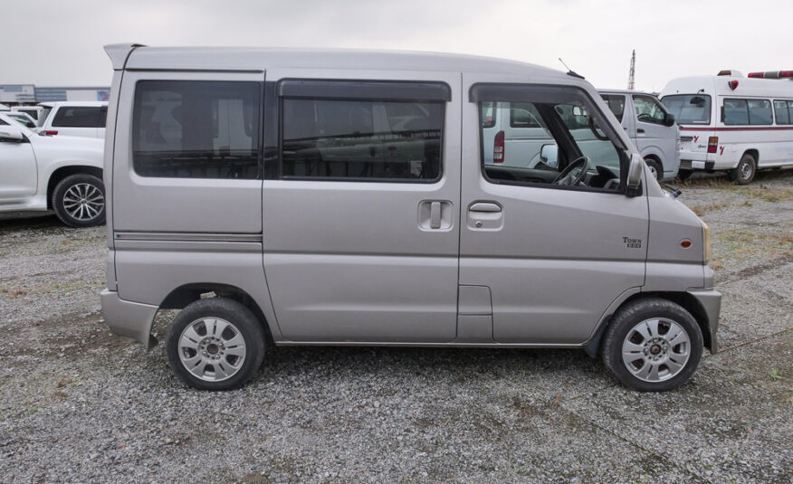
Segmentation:
<svg viewBox="0 0 793 484">
<path fill-rule="evenodd" d="M 224 285 L 278 345 L 584 346 L 627 298 L 688 293 L 713 337 L 721 296 L 702 223 L 643 174 L 643 194 L 493 185 L 480 170 L 478 82 L 586 81 L 520 62 L 406 52 L 114 45 L 105 185 L 110 328 L 148 345 L 172 291 Z M 144 178 L 131 167 L 136 81 L 440 81 L 443 176 L 429 184 Z M 618 129 L 626 147 L 632 144 Z M 635 149 L 635 148 L 630 148 Z M 644 164 L 642 164 L 644 166 Z M 441 204 L 430 229 L 427 203 Z M 499 212 L 470 210 L 497 204 Z M 482 206 L 482 205 L 480 205 Z M 164 208 L 167 207 L 167 208 Z M 481 223 L 481 226 L 479 226 Z M 624 237 L 641 239 L 626 249 Z M 680 241 L 693 244 L 683 249 Z"/>
</svg>

